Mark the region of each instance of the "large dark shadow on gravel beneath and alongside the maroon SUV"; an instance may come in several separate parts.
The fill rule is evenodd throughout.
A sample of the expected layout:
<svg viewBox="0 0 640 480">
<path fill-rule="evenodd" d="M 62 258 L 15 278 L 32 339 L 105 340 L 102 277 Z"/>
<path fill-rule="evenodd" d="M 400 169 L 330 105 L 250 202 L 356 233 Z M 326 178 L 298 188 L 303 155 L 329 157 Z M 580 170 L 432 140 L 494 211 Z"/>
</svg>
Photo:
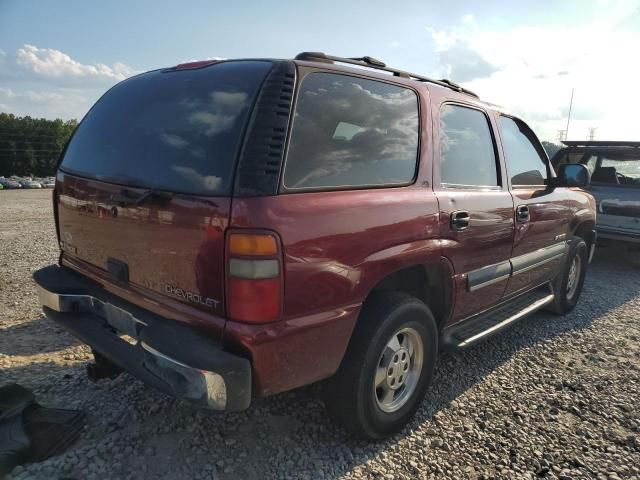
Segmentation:
<svg viewBox="0 0 640 480">
<path fill-rule="evenodd" d="M 171 399 L 126 374 L 91 383 L 82 363 L 36 363 L 6 368 L 3 374 L 13 381 L 25 379 L 27 387 L 35 387 L 52 405 L 68 402 L 87 410 L 83 439 L 61 460 L 73 465 L 69 473 L 76 478 L 83 478 L 88 468 L 83 458 L 96 451 L 106 476 L 115 478 L 339 478 L 364 468 L 374 457 L 397 455 L 407 441 L 423 445 L 428 455 L 434 448 L 429 442 L 441 442 L 439 412 L 453 407 L 464 392 L 495 373 L 483 388 L 517 398 L 522 380 L 510 360 L 531 347 L 590 328 L 637 298 L 639 291 L 640 268 L 617 251 L 598 250 L 571 314 L 539 312 L 472 348 L 443 352 L 433 386 L 414 419 L 398 435 L 376 444 L 355 440 L 328 420 L 319 400 L 320 385 L 256 399 L 244 412 L 220 414 Z M 554 368 L 562 369 L 562 361 Z M 481 411 L 482 405 L 474 408 Z M 117 456 L 101 454 L 103 447 Z M 410 478 L 411 467 L 400 467 Z"/>
</svg>

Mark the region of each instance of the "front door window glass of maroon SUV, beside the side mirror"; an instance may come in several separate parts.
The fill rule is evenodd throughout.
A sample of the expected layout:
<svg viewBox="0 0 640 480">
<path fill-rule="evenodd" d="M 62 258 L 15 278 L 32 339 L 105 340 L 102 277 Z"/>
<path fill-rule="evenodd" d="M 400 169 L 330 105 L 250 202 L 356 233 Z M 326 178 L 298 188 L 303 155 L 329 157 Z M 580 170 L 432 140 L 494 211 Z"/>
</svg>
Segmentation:
<svg viewBox="0 0 640 480">
<path fill-rule="evenodd" d="M 501 116 L 500 131 L 511 185 L 544 185 L 547 161 L 536 148 L 538 140 L 531 129 L 520 120 Z"/>
</svg>

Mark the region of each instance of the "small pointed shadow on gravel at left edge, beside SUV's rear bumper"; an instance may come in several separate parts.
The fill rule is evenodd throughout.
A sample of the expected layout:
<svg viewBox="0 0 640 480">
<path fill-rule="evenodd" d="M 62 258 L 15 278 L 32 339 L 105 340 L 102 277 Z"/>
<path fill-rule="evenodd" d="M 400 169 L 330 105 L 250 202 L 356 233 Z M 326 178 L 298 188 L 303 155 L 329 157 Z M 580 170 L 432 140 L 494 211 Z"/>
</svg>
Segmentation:
<svg viewBox="0 0 640 480">
<path fill-rule="evenodd" d="M 44 317 L 0 329 L 0 354 L 28 356 L 80 345 L 72 335 Z"/>
</svg>

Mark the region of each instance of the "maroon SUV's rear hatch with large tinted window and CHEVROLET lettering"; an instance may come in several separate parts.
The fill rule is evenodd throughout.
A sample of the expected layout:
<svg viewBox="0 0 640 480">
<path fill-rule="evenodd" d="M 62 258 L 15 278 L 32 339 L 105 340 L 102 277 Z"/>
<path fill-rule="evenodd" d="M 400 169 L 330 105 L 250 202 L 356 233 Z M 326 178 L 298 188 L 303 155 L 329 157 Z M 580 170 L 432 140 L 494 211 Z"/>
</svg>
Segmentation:
<svg viewBox="0 0 640 480">
<path fill-rule="evenodd" d="M 147 303 L 224 315 L 236 157 L 271 66 L 157 70 L 107 92 L 75 132 L 58 173 L 67 263 L 142 293 Z"/>
</svg>

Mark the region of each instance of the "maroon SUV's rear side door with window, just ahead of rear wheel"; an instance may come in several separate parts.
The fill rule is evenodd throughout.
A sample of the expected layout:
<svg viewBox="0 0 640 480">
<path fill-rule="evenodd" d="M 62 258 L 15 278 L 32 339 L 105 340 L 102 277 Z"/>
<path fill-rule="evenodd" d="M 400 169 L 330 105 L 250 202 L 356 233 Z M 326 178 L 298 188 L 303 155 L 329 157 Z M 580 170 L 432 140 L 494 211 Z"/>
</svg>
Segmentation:
<svg viewBox="0 0 640 480">
<path fill-rule="evenodd" d="M 511 272 L 513 199 L 490 117 L 472 105 L 434 109 L 434 185 L 443 254 L 455 270 L 455 322 L 500 301 Z"/>
</svg>

